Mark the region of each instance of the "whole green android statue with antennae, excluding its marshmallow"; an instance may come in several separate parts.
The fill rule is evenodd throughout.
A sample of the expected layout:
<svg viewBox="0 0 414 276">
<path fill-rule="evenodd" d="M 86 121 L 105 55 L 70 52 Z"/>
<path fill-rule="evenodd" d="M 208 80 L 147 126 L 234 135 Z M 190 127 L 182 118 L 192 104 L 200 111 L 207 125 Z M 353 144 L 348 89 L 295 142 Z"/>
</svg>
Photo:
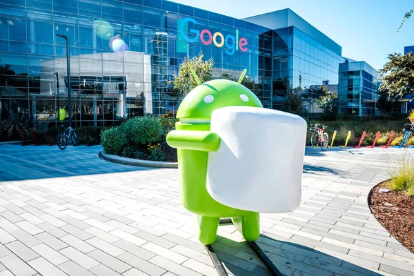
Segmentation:
<svg viewBox="0 0 414 276">
<path fill-rule="evenodd" d="M 182 101 L 177 111 L 176 130 L 167 135 L 167 143 L 177 148 L 180 194 L 184 207 L 197 215 L 199 241 L 213 244 L 220 218 L 231 217 L 246 241 L 255 241 L 259 235 L 259 213 L 238 210 L 220 204 L 206 188 L 208 152 L 219 149 L 220 137 L 210 132 L 211 113 L 226 106 L 253 106 L 262 108 L 256 95 L 238 82 L 216 79 L 199 83 Z M 237 193 L 237 190 L 235 190 Z"/>
</svg>

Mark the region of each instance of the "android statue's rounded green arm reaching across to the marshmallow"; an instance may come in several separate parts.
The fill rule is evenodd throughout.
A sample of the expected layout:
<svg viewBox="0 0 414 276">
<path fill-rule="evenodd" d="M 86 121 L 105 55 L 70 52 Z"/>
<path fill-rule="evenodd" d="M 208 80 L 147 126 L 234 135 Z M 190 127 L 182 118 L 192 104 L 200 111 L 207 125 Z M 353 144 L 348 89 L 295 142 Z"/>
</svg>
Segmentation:
<svg viewBox="0 0 414 276">
<path fill-rule="evenodd" d="M 220 137 L 215 132 L 194 130 L 172 130 L 167 135 L 167 144 L 183 150 L 216 151 Z"/>
</svg>

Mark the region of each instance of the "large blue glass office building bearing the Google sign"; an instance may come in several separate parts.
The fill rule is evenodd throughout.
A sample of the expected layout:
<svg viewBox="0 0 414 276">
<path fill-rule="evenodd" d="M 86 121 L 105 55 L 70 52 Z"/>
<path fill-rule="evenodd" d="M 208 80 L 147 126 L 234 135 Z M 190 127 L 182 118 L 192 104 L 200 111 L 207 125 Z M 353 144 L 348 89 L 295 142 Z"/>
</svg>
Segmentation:
<svg viewBox="0 0 414 276">
<path fill-rule="evenodd" d="M 57 34 L 70 43 L 70 79 Z M 168 79 L 200 52 L 215 78 L 246 68 L 244 84 L 280 109 L 286 83 L 337 84 L 341 51 L 289 9 L 234 19 L 161 0 L 0 0 L 0 121 L 14 113 L 37 128 L 59 125 L 68 83 L 74 126 L 174 112 L 180 98 Z M 304 115 L 314 113 L 309 103 Z"/>
</svg>

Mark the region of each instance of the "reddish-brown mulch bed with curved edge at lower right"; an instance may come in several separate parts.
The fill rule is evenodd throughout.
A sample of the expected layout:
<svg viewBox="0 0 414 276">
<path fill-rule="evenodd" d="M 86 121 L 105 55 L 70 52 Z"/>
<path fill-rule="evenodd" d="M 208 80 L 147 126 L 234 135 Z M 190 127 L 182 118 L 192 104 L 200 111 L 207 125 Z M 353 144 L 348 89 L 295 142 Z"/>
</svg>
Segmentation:
<svg viewBox="0 0 414 276">
<path fill-rule="evenodd" d="M 393 191 L 380 193 L 386 182 L 375 186 L 368 203 L 371 212 L 388 232 L 414 253 L 414 196 Z"/>
</svg>

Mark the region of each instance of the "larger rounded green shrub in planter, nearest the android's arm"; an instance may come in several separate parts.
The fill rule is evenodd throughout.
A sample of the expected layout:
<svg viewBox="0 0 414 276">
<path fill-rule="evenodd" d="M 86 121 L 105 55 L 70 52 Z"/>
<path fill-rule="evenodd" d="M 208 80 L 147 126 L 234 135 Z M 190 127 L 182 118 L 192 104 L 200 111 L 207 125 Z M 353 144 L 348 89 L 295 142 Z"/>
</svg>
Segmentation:
<svg viewBox="0 0 414 276">
<path fill-rule="evenodd" d="M 163 127 L 155 117 L 135 117 L 121 125 L 130 146 L 140 149 L 161 140 Z"/>
</svg>

